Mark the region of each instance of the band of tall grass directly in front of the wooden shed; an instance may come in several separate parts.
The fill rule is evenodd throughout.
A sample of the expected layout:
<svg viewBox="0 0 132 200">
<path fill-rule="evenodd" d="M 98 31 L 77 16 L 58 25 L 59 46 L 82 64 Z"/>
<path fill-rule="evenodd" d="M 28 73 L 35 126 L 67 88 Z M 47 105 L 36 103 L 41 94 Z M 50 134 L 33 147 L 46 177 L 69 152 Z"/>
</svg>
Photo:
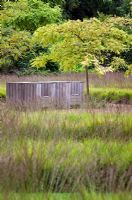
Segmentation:
<svg viewBox="0 0 132 200">
<path fill-rule="evenodd" d="M 131 113 L 100 113 L 95 111 L 36 111 L 1 112 L 3 135 L 28 135 L 30 138 L 52 140 L 57 138 L 83 141 L 89 138 L 129 140 L 132 133 Z M 8 116 L 8 120 L 5 120 Z"/>
</svg>

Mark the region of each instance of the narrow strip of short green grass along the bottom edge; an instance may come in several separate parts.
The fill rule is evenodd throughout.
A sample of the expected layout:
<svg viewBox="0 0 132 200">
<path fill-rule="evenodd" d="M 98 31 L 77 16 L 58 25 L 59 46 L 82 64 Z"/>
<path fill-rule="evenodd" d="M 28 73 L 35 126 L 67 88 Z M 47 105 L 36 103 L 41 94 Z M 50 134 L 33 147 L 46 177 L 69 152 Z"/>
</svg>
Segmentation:
<svg viewBox="0 0 132 200">
<path fill-rule="evenodd" d="M 0 200 L 131 200 L 131 193 L 102 194 L 85 192 L 81 194 L 1 194 Z"/>
</svg>

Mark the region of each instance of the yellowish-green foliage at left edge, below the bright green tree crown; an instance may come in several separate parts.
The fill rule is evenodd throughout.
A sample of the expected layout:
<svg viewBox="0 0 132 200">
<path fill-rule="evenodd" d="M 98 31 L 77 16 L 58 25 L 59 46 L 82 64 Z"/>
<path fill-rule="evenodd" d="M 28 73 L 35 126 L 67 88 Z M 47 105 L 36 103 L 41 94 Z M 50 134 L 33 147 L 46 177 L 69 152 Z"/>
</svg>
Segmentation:
<svg viewBox="0 0 132 200">
<path fill-rule="evenodd" d="M 16 69 L 15 62 L 30 50 L 31 34 L 3 28 L 0 40 L 0 71 Z"/>
</svg>

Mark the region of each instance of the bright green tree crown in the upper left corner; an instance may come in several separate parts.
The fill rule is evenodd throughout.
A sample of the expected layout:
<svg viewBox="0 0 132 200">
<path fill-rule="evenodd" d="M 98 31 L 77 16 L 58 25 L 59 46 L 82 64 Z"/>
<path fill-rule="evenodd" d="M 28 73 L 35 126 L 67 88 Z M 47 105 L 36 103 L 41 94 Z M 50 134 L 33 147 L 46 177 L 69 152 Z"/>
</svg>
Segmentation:
<svg viewBox="0 0 132 200">
<path fill-rule="evenodd" d="M 19 30 L 34 31 L 40 26 L 61 20 L 61 9 L 51 8 L 40 0 L 18 0 L 6 2 L 1 11 L 2 24 Z"/>
</svg>

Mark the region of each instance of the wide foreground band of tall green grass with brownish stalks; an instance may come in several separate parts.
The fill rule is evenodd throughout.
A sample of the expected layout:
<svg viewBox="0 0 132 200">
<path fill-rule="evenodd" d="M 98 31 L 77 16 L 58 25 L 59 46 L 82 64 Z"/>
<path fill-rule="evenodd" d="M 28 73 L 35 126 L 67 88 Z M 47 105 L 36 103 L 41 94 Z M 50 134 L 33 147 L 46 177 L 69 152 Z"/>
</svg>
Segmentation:
<svg viewBox="0 0 132 200">
<path fill-rule="evenodd" d="M 71 193 L 80 187 L 104 192 L 131 190 L 131 142 L 27 139 L 10 146 L 6 143 L 1 153 L 2 190 L 5 187 L 19 192 Z"/>
</svg>

